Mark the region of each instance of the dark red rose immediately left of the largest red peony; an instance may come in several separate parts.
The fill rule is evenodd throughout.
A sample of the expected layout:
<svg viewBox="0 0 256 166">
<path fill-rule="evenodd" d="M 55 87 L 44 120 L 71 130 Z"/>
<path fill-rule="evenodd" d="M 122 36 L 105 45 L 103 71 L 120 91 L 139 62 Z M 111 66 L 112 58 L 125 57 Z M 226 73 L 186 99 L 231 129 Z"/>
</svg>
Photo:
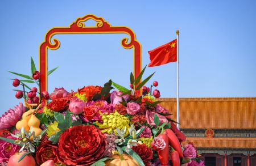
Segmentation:
<svg viewBox="0 0 256 166">
<path fill-rule="evenodd" d="M 51 141 L 42 142 L 36 149 L 36 163 L 38 163 L 38 165 L 41 165 L 47 160 L 54 160 L 55 163 L 57 163 L 57 148 L 57 144 L 52 144 Z"/>
</svg>

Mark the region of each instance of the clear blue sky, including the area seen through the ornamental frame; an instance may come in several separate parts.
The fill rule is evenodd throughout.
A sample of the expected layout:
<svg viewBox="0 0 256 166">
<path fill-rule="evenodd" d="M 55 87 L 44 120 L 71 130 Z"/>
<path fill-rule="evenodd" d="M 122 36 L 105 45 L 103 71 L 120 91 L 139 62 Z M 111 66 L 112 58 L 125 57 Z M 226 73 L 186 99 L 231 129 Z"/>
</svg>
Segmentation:
<svg viewBox="0 0 256 166">
<path fill-rule="evenodd" d="M 100 5 L 101 4 L 101 5 Z M 39 45 L 52 27 L 67 27 L 86 14 L 127 26 L 148 50 L 174 40 L 180 30 L 180 97 L 256 96 L 255 1 L 7 1 L 0 2 L 0 114 L 18 104 L 7 73 L 30 74 L 30 56 L 38 65 Z M 129 87 L 133 50 L 126 35 L 56 35 L 61 46 L 49 50 L 49 92 L 103 85 L 110 78 Z M 37 66 L 38 67 L 38 66 Z M 158 80 L 162 97 L 176 95 L 176 63 L 146 69 Z M 150 83 L 147 85 L 149 86 Z M 31 86 L 32 87 L 32 86 Z"/>
</svg>

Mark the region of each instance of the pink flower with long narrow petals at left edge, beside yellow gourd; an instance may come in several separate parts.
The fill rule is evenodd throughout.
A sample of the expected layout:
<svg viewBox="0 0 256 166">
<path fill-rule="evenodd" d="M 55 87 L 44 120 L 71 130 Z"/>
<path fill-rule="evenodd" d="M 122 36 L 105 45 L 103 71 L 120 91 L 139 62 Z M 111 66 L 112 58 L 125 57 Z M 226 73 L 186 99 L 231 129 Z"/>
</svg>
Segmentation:
<svg viewBox="0 0 256 166">
<path fill-rule="evenodd" d="M 0 129 L 10 129 L 15 126 L 24 112 L 25 107 L 22 103 L 16 105 L 14 109 L 10 108 L 8 112 L 5 112 L 5 114 L 0 117 Z"/>
</svg>

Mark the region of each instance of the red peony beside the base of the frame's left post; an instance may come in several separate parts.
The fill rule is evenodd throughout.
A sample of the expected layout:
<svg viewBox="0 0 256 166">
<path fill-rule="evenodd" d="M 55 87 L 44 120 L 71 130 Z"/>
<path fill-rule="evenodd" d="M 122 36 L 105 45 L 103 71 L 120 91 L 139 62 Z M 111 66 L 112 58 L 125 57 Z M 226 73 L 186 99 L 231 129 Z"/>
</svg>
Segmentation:
<svg viewBox="0 0 256 166">
<path fill-rule="evenodd" d="M 52 100 L 49 104 L 47 104 L 47 108 L 59 112 L 60 110 L 65 110 L 68 108 L 68 99 L 59 98 Z"/>
</svg>

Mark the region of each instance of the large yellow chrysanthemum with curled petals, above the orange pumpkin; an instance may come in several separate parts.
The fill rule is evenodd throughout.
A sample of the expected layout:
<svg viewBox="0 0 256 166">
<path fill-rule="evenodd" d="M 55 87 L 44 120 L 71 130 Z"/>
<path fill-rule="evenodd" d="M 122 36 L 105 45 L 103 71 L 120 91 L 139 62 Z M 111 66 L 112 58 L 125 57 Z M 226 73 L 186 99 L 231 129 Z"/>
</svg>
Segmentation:
<svg viewBox="0 0 256 166">
<path fill-rule="evenodd" d="M 102 133 L 108 132 L 108 134 L 110 134 L 114 131 L 115 135 L 117 135 L 117 128 L 122 130 L 122 129 L 125 129 L 126 127 L 126 133 L 124 136 L 126 137 L 129 134 L 128 129 L 131 126 L 131 122 L 129 118 L 127 118 L 126 116 L 123 116 L 122 114 L 119 114 L 116 110 L 114 113 L 102 114 L 100 112 L 100 114 L 102 116 L 103 124 L 96 122 L 96 125 L 98 125 L 100 129 L 104 129 L 104 130 L 101 130 Z"/>
</svg>

